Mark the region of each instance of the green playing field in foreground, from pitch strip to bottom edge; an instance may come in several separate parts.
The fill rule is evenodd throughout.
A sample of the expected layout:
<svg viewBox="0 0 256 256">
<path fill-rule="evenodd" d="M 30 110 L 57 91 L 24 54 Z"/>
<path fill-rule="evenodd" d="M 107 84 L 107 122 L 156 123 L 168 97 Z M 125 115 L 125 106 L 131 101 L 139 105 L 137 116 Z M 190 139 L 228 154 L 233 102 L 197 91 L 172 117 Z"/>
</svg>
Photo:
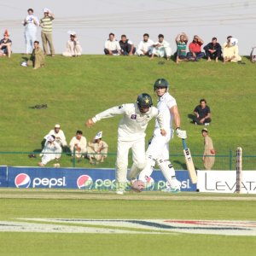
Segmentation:
<svg viewBox="0 0 256 256">
<path fill-rule="evenodd" d="M 55 189 L 1 189 L 0 230 L 23 224 L 37 224 L 37 232 L 0 232 L 0 255 L 253 255 L 256 250 L 255 195 L 220 195 L 202 193 L 166 194 L 163 192 L 89 193 Z M 24 220 L 26 218 L 26 220 Z M 35 220 L 35 218 L 38 218 Z M 45 223 L 45 218 L 51 223 Z M 61 223 L 68 229 L 90 228 L 108 230 L 108 223 L 81 223 L 83 219 L 136 220 L 225 220 L 232 224 L 250 221 L 252 236 L 207 235 L 172 230 L 110 227 L 103 231 L 74 233 L 45 231 L 45 225 L 59 224 L 60 219 L 78 220 Z M 3 221 L 5 224 L 3 225 Z M 206 229 L 203 224 L 203 229 Z M 248 227 L 248 225 L 247 225 Z M 219 226 L 218 226 L 219 228 Z M 42 230 L 40 230 L 42 229 Z M 232 226 L 236 230 L 236 226 Z M 119 230 L 125 233 L 117 233 Z M 134 234 L 131 234 L 134 232 Z M 190 232 L 190 231 L 189 231 Z M 232 230 L 231 230 L 232 232 Z M 141 234 L 140 234 L 141 233 Z"/>
</svg>

